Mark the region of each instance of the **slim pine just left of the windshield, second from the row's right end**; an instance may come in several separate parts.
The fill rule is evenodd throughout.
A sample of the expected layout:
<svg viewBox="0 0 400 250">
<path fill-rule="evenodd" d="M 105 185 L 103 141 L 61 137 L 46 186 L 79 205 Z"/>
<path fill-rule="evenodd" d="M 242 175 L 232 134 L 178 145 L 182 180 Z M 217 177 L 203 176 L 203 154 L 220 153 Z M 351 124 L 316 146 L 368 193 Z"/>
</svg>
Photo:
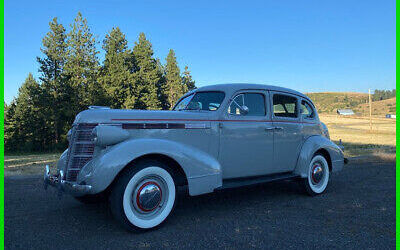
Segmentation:
<svg viewBox="0 0 400 250">
<path fill-rule="evenodd" d="M 164 86 L 164 95 L 167 97 L 166 108 L 172 108 L 178 99 L 187 92 L 186 85 L 182 84 L 182 78 L 174 50 L 170 49 L 165 66 L 166 84 Z"/>
</svg>

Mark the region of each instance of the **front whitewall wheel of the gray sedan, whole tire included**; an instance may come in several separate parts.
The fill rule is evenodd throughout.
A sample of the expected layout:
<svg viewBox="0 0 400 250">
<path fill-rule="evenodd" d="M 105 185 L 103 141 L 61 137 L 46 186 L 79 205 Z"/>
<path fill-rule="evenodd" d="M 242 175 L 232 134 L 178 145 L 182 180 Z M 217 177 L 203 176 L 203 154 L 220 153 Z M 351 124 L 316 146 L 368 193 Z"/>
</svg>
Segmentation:
<svg viewBox="0 0 400 250">
<path fill-rule="evenodd" d="M 172 212 L 176 186 L 172 171 L 162 162 L 139 162 L 122 173 L 110 195 L 111 211 L 130 230 L 151 229 Z"/>
</svg>

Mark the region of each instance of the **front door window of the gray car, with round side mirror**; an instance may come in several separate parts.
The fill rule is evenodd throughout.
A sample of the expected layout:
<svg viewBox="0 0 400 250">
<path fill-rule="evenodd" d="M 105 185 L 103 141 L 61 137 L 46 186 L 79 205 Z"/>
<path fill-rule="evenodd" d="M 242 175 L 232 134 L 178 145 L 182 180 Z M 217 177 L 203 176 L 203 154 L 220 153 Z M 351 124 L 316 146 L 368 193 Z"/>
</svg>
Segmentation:
<svg viewBox="0 0 400 250">
<path fill-rule="evenodd" d="M 231 115 L 244 115 L 242 107 L 248 108 L 249 116 L 265 116 L 265 97 L 263 94 L 244 93 L 237 95 L 228 107 L 228 113 Z"/>
</svg>

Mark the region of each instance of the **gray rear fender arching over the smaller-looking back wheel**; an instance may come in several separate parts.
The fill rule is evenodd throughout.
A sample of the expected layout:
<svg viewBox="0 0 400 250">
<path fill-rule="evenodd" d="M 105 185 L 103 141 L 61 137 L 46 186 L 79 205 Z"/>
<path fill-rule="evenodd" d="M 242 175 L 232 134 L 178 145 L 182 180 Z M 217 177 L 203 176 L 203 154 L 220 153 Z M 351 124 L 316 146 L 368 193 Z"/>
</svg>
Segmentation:
<svg viewBox="0 0 400 250">
<path fill-rule="evenodd" d="M 344 155 L 339 146 L 324 136 L 314 135 L 307 138 L 304 142 L 299 158 L 297 159 L 294 173 L 303 178 L 307 177 L 308 165 L 310 164 L 311 158 L 320 149 L 325 149 L 329 153 L 332 163 L 332 172 L 340 171 L 343 168 Z"/>
</svg>

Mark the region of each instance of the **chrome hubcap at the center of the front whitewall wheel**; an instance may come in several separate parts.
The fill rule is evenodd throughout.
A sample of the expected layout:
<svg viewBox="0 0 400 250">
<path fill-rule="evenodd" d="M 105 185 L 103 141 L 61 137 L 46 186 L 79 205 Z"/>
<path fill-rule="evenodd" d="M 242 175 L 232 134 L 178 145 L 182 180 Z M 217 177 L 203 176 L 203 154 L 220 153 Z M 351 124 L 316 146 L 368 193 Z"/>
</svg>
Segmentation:
<svg viewBox="0 0 400 250">
<path fill-rule="evenodd" d="M 154 181 L 143 183 L 136 193 L 137 207 L 143 212 L 155 210 L 160 205 L 161 199 L 161 187 Z"/>
</svg>

